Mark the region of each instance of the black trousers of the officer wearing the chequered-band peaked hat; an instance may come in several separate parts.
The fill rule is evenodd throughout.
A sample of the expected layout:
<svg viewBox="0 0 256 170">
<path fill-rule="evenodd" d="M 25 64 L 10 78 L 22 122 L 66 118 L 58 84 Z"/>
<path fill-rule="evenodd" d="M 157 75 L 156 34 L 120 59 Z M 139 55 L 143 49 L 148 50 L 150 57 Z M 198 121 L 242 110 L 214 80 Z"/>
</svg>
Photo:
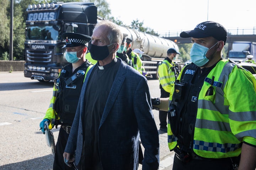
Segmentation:
<svg viewBox="0 0 256 170">
<path fill-rule="evenodd" d="M 59 136 L 56 143 L 56 151 L 54 154 L 53 170 L 74 170 L 74 167 L 69 167 L 64 163 L 63 153 L 68 141 L 69 134 L 59 126 Z"/>
</svg>

